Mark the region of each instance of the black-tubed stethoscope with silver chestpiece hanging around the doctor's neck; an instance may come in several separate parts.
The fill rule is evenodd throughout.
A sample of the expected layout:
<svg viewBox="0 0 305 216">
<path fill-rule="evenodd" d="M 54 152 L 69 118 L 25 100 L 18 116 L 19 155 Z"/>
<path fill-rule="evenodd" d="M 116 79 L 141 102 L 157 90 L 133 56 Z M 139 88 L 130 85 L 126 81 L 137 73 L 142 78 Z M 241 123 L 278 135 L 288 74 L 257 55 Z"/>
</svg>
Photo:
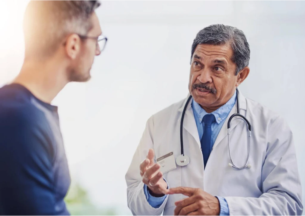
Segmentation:
<svg viewBox="0 0 305 216">
<path fill-rule="evenodd" d="M 185 111 L 186 111 L 186 108 L 188 106 L 188 103 L 189 101 L 192 99 L 192 95 L 188 97 L 188 100 L 186 101 L 185 103 L 185 106 L 183 108 L 183 112 L 182 112 L 182 117 L 181 117 L 181 123 L 180 123 L 180 144 L 181 144 L 181 155 L 178 156 L 176 158 L 176 163 L 177 165 L 179 166 L 186 166 L 188 165 L 188 163 L 190 162 L 190 158 L 184 154 L 184 151 L 183 151 L 183 136 L 182 136 L 182 130 L 183 130 L 183 120 L 184 120 L 184 115 L 185 115 Z M 236 168 L 236 169 L 244 169 L 244 168 L 250 168 L 251 165 L 248 164 L 249 162 L 249 158 L 250 158 L 250 150 L 251 150 L 251 124 L 250 122 L 246 119 L 245 116 L 239 114 L 239 97 L 238 97 L 238 90 L 236 89 L 236 104 L 237 104 L 237 113 L 233 114 L 230 116 L 229 120 L 228 120 L 228 149 L 229 149 L 229 155 L 230 155 L 230 160 L 231 160 L 231 163 L 229 163 L 229 166 L 230 167 L 233 167 L 233 168 Z M 230 128 L 231 128 L 231 120 L 234 118 L 234 117 L 239 117 L 237 119 L 241 119 L 243 120 L 244 122 L 246 122 L 246 124 L 248 125 L 248 143 L 249 143 L 249 148 L 248 148 L 248 156 L 247 156 L 247 160 L 246 160 L 246 163 L 245 165 L 241 166 L 241 167 L 238 167 L 234 164 L 233 162 L 233 159 L 232 159 L 232 155 L 231 155 L 231 150 L 230 150 Z M 234 120 L 237 120 L 237 119 L 234 119 Z M 233 120 L 233 121 L 234 121 Z"/>
</svg>

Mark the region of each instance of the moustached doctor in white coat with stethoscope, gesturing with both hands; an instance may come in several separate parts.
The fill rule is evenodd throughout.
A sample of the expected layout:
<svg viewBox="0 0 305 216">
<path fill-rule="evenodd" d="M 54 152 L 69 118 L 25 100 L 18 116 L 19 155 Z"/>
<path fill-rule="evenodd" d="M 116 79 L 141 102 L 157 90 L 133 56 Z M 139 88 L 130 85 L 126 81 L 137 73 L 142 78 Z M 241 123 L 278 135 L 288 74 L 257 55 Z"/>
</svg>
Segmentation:
<svg viewBox="0 0 305 216">
<path fill-rule="evenodd" d="M 127 171 L 133 215 L 302 214 L 289 126 L 237 89 L 249 74 L 249 58 L 246 37 L 235 27 L 211 25 L 196 35 L 190 94 L 147 121 Z M 242 117 L 233 117 L 229 153 L 228 121 L 237 112 L 251 133 Z"/>
</svg>

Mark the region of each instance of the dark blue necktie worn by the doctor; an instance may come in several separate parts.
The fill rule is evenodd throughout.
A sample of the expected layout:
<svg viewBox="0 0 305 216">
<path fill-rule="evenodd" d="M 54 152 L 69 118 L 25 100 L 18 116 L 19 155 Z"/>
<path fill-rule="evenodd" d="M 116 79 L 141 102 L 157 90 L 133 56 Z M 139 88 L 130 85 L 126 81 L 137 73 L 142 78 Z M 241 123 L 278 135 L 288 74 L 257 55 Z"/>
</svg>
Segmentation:
<svg viewBox="0 0 305 216">
<path fill-rule="evenodd" d="M 206 168 L 206 162 L 209 159 L 212 146 L 212 128 L 211 125 L 215 121 L 215 116 L 213 114 L 207 114 L 203 116 L 204 128 L 203 136 L 200 140 L 202 154 L 203 154 L 203 163 L 204 168 Z"/>
</svg>

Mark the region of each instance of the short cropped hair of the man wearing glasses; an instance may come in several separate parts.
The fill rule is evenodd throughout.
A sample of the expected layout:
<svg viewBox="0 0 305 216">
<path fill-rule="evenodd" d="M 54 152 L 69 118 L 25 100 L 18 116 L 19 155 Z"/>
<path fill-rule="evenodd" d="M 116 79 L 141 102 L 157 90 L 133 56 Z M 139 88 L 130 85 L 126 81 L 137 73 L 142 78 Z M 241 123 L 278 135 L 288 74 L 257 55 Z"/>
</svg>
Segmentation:
<svg viewBox="0 0 305 216">
<path fill-rule="evenodd" d="M 25 57 L 52 55 L 68 34 L 86 35 L 98 0 L 31 0 L 24 14 Z"/>
</svg>

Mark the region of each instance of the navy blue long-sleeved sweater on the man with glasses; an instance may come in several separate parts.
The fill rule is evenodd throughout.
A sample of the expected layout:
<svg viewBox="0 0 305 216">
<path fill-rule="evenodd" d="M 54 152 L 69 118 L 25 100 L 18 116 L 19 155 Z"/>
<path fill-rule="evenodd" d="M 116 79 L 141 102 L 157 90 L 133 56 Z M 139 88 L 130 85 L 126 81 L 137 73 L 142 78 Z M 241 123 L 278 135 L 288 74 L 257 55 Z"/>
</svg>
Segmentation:
<svg viewBox="0 0 305 216">
<path fill-rule="evenodd" d="M 0 89 L 0 215 L 67 216 L 70 174 L 57 107 L 18 84 Z"/>
</svg>

